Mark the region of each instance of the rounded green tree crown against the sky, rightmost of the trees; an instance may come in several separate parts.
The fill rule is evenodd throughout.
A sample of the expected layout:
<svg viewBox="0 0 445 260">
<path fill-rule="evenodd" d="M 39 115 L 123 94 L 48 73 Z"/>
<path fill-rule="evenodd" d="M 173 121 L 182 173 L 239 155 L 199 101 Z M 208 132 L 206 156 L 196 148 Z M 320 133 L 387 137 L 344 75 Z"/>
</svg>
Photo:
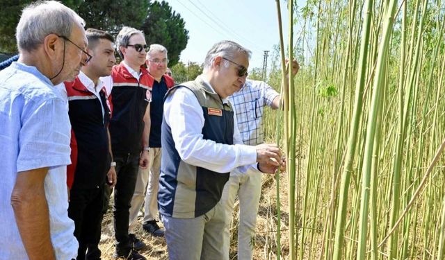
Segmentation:
<svg viewBox="0 0 445 260">
<path fill-rule="evenodd" d="M 154 1 L 142 26 L 147 44 L 161 44 L 168 49 L 169 66 L 179 62 L 181 51 L 186 49 L 188 30 L 181 15 L 172 11 L 165 1 Z"/>
</svg>

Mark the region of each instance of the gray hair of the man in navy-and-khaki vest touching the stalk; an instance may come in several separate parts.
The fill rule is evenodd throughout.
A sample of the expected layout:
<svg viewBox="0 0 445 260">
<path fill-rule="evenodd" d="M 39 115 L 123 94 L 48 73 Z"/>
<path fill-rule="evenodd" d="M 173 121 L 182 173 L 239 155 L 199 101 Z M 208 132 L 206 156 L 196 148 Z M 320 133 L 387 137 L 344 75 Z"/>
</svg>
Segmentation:
<svg viewBox="0 0 445 260">
<path fill-rule="evenodd" d="M 207 53 L 206 58 L 204 59 L 204 71 L 207 71 L 211 68 L 211 64 L 213 60 L 218 57 L 225 57 L 227 59 L 233 59 L 236 53 L 244 53 L 248 56 L 250 60 L 250 56 L 252 55 L 252 51 L 245 49 L 240 44 L 232 41 L 221 41 L 211 47 L 210 51 Z"/>
</svg>

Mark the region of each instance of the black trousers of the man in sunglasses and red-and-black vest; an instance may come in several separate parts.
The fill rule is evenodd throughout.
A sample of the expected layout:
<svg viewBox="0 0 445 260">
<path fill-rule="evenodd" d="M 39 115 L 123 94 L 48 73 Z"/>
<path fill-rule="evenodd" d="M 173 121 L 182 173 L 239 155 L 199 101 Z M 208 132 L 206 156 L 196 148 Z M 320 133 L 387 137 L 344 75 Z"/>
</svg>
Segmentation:
<svg viewBox="0 0 445 260">
<path fill-rule="evenodd" d="M 116 162 L 115 170 L 118 175 L 118 182 L 114 187 L 114 232 L 116 238 L 116 251 L 118 254 L 128 254 L 132 244 L 128 236 L 128 226 L 130 218 L 131 198 L 133 198 L 134 188 L 138 177 L 140 154 L 116 154 L 113 153 Z M 108 207 L 111 189 L 106 187 L 104 212 Z"/>
</svg>

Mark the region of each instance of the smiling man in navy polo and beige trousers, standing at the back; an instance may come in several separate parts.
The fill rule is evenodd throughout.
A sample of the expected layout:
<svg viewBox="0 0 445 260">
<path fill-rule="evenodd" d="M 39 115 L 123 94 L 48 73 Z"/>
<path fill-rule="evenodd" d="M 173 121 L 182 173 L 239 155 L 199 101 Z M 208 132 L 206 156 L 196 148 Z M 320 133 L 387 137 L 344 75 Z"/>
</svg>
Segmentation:
<svg viewBox="0 0 445 260">
<path fill-rule="evenodd" d="M 139 168 L 138 180 L 131 200 L 129 234 L 134 234 L 138 224 L 138 212 L 145 200 L 143 230 L 153 236 L 163 236 L 164 231 L 157 223 L 158 189 L 161 167 L 161 123 L 164 106 L 164 96 L 175 81 L 165 75 L 168 58 L 167 49 L 160 44 L 150 45 L 147 52 L 147 70 L 154 80 L 152 86 L 152 102 L 150 104 L 150 135 L 149 135 L 149 163 L 147 168 Z M 144 196 L 145 194 L 145 196 Z M 144 199 L 145 197 L 145 199 Z"/>
</svg>

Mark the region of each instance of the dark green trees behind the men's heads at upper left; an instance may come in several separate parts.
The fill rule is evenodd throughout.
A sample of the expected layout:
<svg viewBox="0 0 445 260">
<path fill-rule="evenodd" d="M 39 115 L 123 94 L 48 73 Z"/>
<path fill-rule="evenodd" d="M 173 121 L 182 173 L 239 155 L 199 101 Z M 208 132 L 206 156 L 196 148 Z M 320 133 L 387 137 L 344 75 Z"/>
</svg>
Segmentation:
<svg viewBox="0 0 445 260">
<path fill-rule="evenodd" d="M 4 0 L 0 9 L 0 52 L 17 53 L 15 28 L 20 12 L 32 1 Z M 86 21 L 86 28 L 97 28 L 117 35 L 122 26 L 145 33 L 147 44 L 162 44 L 168 49 L 170 66 L 177 64 L 186 48 L 188 31 L 184 19 L 167 2 L 149 0 L 64 0 Z"/>
</svg>

